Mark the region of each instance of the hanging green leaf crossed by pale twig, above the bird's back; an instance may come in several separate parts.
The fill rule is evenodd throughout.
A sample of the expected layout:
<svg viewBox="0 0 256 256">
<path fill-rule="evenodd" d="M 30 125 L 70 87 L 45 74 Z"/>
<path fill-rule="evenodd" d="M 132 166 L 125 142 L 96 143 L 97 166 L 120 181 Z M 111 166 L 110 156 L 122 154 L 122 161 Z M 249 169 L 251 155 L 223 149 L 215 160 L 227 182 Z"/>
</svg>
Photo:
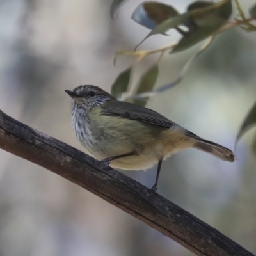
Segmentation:
<svg viewBox="0 0 256 256">
<path fill-rule="evenodd" d="M 144 92 L 150 92 L 154 85 L 156 84 L 156 80 L 159 74 L 159 67 L 158 65 L 154 65 L 151 67 L 145 74 L 141 77 L 140 82 L 138 84 L 138 89 L 136 90 L 135 94 L 144 93 Z M 147 104 L 147 100 L 138 100 L 134 99 L 132 102 L 136 105 L 145 106 Z"/>
</svg>

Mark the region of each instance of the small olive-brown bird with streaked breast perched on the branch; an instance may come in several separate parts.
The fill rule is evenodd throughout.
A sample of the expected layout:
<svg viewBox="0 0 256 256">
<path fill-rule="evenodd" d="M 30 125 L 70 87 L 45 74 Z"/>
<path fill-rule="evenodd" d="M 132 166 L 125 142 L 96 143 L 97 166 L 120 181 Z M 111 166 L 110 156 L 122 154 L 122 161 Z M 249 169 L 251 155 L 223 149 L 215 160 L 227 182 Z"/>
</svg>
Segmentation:
<svg viewBox="0 0 256 256">
<path fill-rule="evenodd" d="M 65 90 L 72 98 L 72 127 L 86 152 L 112 168 L 145 170 L 171 154 L 193 147 L 223 161 L 234 161 L 228 148 L 204 140 L 156 111 L 122 102 L 93 85 Z"/>
</svg>

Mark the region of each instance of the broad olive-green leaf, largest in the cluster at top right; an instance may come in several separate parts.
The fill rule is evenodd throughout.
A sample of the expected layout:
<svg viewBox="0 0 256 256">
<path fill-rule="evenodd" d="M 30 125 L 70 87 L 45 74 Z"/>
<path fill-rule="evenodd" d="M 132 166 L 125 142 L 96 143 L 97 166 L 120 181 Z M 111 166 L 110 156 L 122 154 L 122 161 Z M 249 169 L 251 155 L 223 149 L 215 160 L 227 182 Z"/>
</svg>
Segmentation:
<svg viewBox="0 0 256 256">
<path fill-rule="evenodd" d="M 206 7 L 201 8 L 200 6 Z M 184 51 L 214 34 L 229 19 L 232 13 L 232 3 L 231 0 L 216 4 L 198 1 L 191 4 L 188 10 L 191 11 L 189 18 L 186 20 L 186 26 L 190 30 L 172 49 L 172 53 Z"/>
</svg>

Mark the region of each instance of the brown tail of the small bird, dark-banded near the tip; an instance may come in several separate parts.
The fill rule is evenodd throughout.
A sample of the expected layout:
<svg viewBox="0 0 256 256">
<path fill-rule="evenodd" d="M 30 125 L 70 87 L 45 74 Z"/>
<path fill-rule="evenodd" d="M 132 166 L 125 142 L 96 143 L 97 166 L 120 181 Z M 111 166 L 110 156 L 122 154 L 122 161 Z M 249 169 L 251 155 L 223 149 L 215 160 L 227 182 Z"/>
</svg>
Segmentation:
<svg viewBox="0 0 256 256">
<path fill-rule="evenodd" d="M 234 153 L 230 149 L 225 148 L 221 145 L 218 145 L 217 143 L 204 140 L 200 137 L 197 137 L 194 139 L 196 140 L 196 142 L 192 146 L 193 148 L 212 154 L 213 156 L 216 156 L 223 161 L 229 161 L 229 162 L 235 161 Z"/>
</svg>

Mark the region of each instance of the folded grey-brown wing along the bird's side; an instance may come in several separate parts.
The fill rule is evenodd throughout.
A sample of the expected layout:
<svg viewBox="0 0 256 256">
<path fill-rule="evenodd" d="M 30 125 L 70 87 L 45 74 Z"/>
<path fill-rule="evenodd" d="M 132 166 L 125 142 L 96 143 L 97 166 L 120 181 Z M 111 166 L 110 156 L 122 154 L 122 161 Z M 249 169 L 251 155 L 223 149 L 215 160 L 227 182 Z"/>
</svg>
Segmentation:
<svg viewBox="0 0 256 256">
<path fill-rule="evenodd" d="M 122 118 L 137 120 L 165 128 L 170 128 L 173 125 L 177 125 L 156 111 L 143 108 L 129 102 L 110 100 L 102 104 L 101 107 L 102 115 L 120 116 Z"/>
</svg>

